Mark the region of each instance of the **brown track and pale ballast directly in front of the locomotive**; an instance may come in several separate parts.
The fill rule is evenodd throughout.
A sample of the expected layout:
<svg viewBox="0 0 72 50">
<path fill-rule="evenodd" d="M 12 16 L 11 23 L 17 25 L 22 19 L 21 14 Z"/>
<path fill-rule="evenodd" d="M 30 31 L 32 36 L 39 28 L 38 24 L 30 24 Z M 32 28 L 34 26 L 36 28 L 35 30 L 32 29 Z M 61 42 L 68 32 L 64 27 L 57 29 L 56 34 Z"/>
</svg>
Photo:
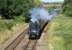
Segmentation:
<svg viewBox="0 0 72 50">
<path fill-rule="evenodd" d="M 21 41 L 21 43 L 14 50 L 35 50 L 37 40 L 29 40 L 28 36 Z"/>
</svg>

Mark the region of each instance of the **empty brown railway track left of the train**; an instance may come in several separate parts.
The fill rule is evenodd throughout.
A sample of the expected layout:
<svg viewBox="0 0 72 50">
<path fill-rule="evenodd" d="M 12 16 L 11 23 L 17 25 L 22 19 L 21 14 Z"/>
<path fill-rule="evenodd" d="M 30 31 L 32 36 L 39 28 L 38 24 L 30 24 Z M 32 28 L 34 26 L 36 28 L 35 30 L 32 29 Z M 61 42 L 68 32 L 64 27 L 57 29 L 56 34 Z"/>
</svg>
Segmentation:
<svg viewBox="0 0 72 50">
<path fill-rule="evenodd" d="M 19 36 L 17 36 L 8 46 L 6 46 L 3 50 L 14 50 L 17 45 L 25 38 L 26 33 L 28 32 L 28 28 L 24 30 Z"/>
</svg>

